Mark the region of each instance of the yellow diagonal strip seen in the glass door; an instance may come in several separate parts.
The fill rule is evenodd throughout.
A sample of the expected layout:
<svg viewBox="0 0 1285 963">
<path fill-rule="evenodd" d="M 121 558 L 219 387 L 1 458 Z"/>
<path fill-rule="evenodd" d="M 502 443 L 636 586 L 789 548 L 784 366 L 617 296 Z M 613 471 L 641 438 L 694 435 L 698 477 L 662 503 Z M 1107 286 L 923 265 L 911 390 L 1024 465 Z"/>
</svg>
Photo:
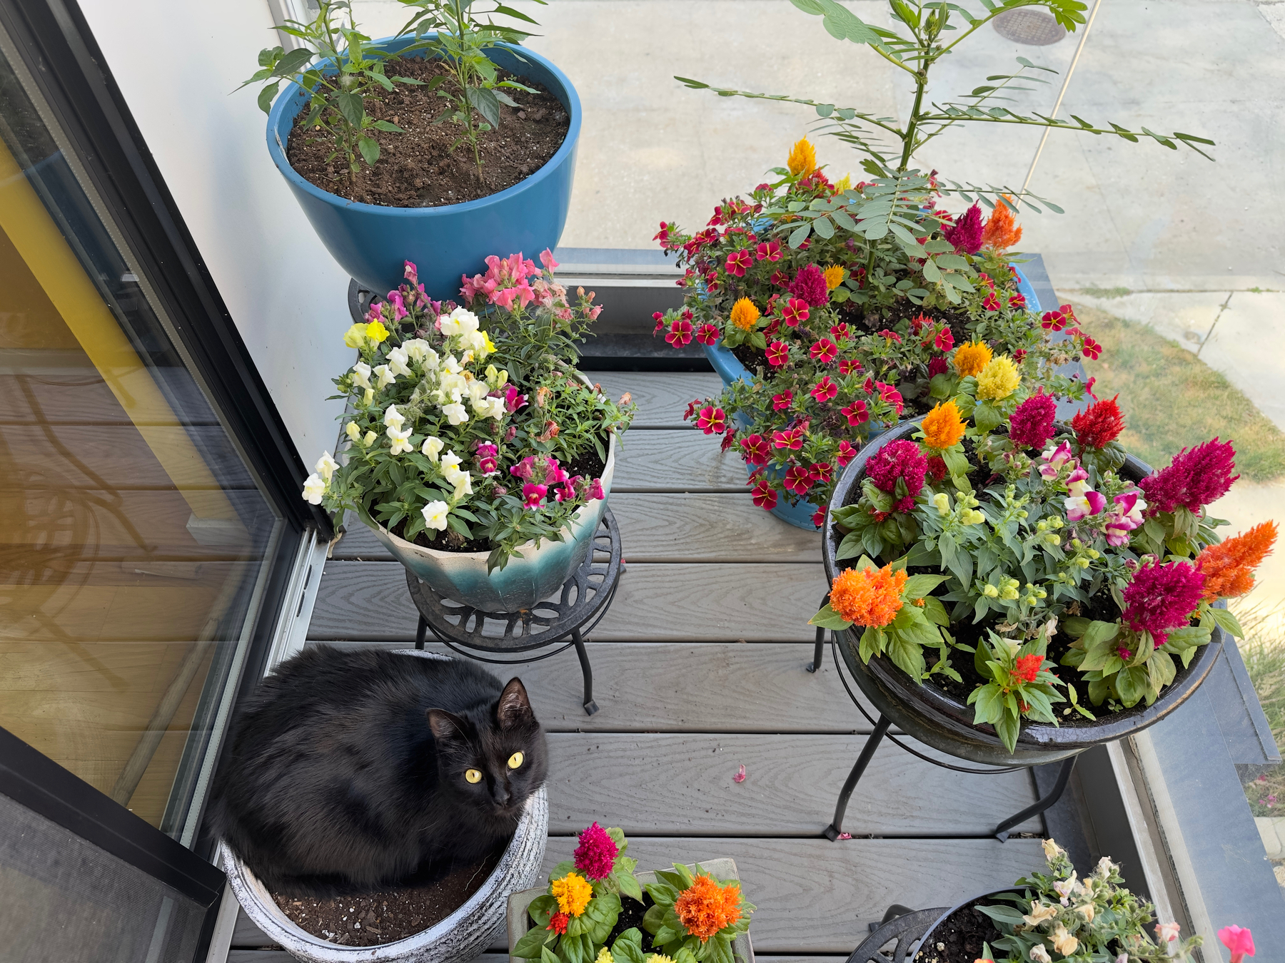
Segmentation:
<svg viewBox="0 0 1285 963">
<path fill-rule="evenodd" d="M 0 141 L 0 230 L 40 282 L 81 348 L 94 362 L 143 440 L 161 462 L 197 517 L 235 520 L 236 512 L 220 490 L 182 422 L 175 416 L 143 360 L 62 232 L 50 220 L 36 191 L 8 146 Z"/>
</svg>

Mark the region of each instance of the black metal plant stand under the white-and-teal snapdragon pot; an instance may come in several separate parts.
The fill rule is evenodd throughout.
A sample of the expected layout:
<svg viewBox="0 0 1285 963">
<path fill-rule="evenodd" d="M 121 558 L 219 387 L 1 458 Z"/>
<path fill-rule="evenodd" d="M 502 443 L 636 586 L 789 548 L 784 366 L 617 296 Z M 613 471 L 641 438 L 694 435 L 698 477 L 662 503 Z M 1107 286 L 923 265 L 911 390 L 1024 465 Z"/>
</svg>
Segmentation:
<svg viewBox="0 0 1285 963">
<path fill-rule="evenodd" d="M 621 574 L 625 570 L 621 532 L 612 510 L 604 507 L 594 544 L 571 578 L 551 598 L 532 609 L 517 612 L 486 612 L 463 602 L 443 598 L 410 570 L 406 587 L 419 610 L 419 628 L 415 630 L 415 648 L 424 647 L 424 636 L 433 636 L 452 652 L 492 665 L 537 663 L 574 647 L 580 656 L 580 669 L 585 677 L 585 713 L 594 715 L 594 670 L 585 651 L 585 639 L 612 605 Z M 529 656 L 537 648 L 556 646 L 571 636 L 560 648 Z M 468 651 L 465 651 L 468 650 Z M 517 659 L 487 659 L 477 652 L 518 655 Z"/>
</svg>

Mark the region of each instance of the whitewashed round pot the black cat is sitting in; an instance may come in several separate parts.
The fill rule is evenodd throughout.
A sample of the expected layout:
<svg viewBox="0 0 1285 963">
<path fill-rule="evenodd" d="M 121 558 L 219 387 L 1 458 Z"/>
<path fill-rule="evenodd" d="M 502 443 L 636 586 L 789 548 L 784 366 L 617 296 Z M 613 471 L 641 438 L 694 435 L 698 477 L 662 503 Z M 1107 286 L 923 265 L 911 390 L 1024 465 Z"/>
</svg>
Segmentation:
<svg viewBox="0 0 1285 963">
<path fill-rule="evenodd" d="M 414 650 L 398 655 L 446 657 Z M 308 963 L 466 963 L 501 939 L 508 899 L 540 878 L 547 838 L 549 795 L 541 787 L 527 800 L 518 831 L 500 864 L 463 907 L 428 930 L 379 946 L 341 946 L 314 936 L 278 908 L 265 886 L 222 844 L 218 862 L 245 915 L 296 959 Z"/>
</svg>

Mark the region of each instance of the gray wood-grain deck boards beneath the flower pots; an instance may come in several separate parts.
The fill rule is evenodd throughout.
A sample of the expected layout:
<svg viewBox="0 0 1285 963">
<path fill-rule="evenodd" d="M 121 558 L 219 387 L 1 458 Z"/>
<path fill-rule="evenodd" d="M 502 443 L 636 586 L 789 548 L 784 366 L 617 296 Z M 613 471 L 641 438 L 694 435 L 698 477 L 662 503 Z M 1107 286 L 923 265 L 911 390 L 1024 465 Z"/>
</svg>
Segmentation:
<svg viewBox="0 0 1285 963">
<path fill-rule="evenodd" d="M 1038 868 L 1040 819 L 1018 827 L 1031 838 L 989 836 L 1034 801 L 1028 772 L 953 773 L 887 742 L 848 809 L 855 838 L 822 837 L 870 727 L 829 656 L 804 670 L 807 619 L 825 592 L 820 538 L 756 508 L 740 458 L 682 424 L 717 377 L 592 376 L 639 403 L 610 496 L 627 568 L 589 639 L 601 711 L 581 709 L 571 652 L 495 669 L 523 678 L 550 733 L 547 865 L 595 819 L 625 829 L 640 869 L 731 856 L 758 907 L 756 955 L 775 963 L 838 963 L 892 903 L 947 905 Z M 326 564 L 310 643 L 407 647 L 415 623 L 402 568 L 364 530 L 348 533 Z M 266 944 L 243 913 L 229 960 L 285 963 Z"/>
</svg>

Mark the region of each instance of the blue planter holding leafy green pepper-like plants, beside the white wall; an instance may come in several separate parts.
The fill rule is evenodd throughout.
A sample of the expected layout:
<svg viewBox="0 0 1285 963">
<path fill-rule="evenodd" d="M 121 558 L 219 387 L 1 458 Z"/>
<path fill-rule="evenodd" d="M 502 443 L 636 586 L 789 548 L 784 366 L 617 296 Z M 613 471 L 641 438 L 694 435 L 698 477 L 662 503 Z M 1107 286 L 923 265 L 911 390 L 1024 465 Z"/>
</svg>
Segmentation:
<svg viewBox="0 0 1285 963">
<path fill-rule="evenodd" d="M 386 37 L 375 46 L 396 53 L 412 42 L 412 37 Z M 315 187 L 285 158 L 290 128 L 307 95 L 294 87 L 293 94 L 279 96 L 272 105 L 267 118 L 267 152 L 272 163 L 330 256 L 368 290 L 377 294 L 392 290 L 402 282 L 402 262 L 412 261 L 430 295 L 459 298 L 460 275 L 484 271 L 487 254 L 506 257 L 520 250 L 535 258 L 545 248 L 558 247 L 576 176 L 580 96 L 562 71 L 527 48 L 500 44 L 487 55 L 499 67 L 536 81 L 558 98 L 571 126 L 558 153 L 533 175 L 499 194 L 463 204 L 382 207 Z"/>
</svg>

